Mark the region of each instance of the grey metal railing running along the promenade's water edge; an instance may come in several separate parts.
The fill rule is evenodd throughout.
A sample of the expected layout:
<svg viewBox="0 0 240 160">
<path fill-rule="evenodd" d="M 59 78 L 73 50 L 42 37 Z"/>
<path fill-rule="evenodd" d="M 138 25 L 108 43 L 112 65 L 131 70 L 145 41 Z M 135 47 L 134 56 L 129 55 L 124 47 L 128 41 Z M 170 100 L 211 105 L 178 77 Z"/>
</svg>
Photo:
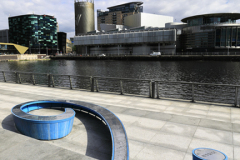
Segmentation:
<svg viewBox="0 0 240 160">
<path fill-rule="evenodd" d="M 0 81 L 239 105 L 240 85 L 1 71 Z"/>
</svg>

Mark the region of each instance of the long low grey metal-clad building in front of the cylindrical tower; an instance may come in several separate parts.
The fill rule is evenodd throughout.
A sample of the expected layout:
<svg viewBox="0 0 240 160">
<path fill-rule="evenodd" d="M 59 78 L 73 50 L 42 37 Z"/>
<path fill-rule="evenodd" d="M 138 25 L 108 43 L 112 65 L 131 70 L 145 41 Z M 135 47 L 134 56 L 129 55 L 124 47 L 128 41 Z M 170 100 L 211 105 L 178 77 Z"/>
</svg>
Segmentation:
<svg viewBox="0 0 240 160">
<path fill-rule="evenodd" d="M 74 37 L 74 45 L 88 55 L 149 55 L 153 51 L 175 54 L 176 30 L 139 27 L 128 30 L 89 33 Z"/>
</svg>

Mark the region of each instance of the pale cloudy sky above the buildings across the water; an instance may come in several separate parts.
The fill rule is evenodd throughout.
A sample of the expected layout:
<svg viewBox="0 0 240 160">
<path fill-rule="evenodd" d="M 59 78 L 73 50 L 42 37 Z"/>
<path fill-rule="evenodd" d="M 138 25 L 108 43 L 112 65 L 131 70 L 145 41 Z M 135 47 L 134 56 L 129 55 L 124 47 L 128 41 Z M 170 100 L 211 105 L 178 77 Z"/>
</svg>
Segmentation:
<svg viewBox="0 0 240 160">
<path fill-rule="evenodd" d="M 132 0 L 133 1 L 133 0 Z M 95 22 L 97 9 L 132 2 L 128 0 L 95 0 Z M 174 17 L 174 21 L 206 13 L 239 13 L 239 0 L 142 0 L 143 12 Z M 74 0 L 1 0 L 0 30 L 8 29 L 8 17 L 24 14 L 47 14 L 57 18 L 59 31 L 67 37 L 75 33 Z M 96 28 L 96 26 L 95 26 Z"/>
</svg>

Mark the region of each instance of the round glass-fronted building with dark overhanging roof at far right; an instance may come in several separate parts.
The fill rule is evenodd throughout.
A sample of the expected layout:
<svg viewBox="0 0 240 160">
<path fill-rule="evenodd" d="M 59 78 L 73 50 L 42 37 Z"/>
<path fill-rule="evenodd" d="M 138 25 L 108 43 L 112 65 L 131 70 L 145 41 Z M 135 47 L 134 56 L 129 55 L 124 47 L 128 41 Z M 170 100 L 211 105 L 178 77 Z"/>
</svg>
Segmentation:
<svg viewBox="0 0 240 160">
<path fill-rule="evenodd" d="M 236 52 L 240 50 L 240 13 L 213 13 L 182 19 L 181 51 Z"/>
</svg>

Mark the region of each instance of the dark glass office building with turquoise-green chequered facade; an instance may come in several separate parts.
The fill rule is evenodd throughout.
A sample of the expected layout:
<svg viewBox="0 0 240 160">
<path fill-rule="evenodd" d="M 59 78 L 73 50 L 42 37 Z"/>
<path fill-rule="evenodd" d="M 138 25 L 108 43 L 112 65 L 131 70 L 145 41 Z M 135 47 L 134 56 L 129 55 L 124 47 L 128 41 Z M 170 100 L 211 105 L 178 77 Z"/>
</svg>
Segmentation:
<svg viewBox="0 0 240 160">
<path fill-rule="evenodd" d="M 29 47 L 28 53 L 57 52 L 57 20 L 50 15 L 9 17 L 9 42 Z"/>
</svg>

